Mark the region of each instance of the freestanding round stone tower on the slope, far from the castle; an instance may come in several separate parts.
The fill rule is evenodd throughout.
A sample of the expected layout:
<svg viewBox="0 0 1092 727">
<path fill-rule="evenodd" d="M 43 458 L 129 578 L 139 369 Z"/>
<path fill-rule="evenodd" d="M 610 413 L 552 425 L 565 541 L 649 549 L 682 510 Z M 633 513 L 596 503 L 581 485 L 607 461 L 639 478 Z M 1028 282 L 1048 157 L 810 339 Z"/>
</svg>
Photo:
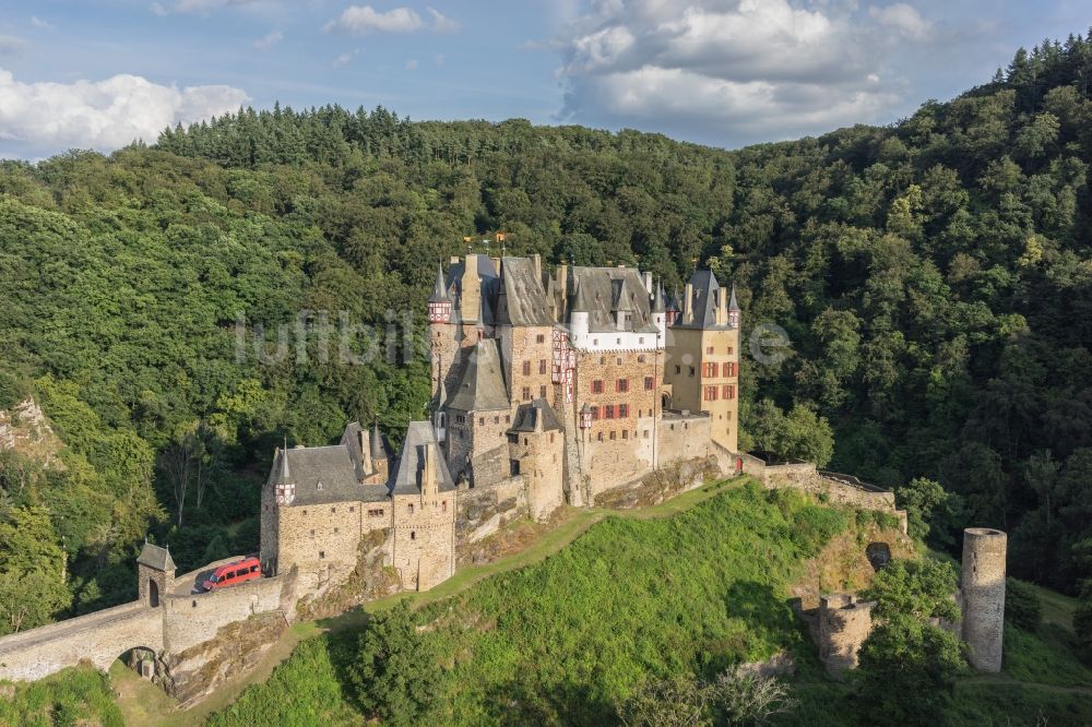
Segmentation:
<svg viewBox="0 0 1092 727">
<path fill-rule="evenodd" d="M 963 531 L 963 641 L 971 647 L 971 666 L 1001 670 L 1005 631 L 1005 550 L 1008 536 L 988 527 Z"/>
</svg>

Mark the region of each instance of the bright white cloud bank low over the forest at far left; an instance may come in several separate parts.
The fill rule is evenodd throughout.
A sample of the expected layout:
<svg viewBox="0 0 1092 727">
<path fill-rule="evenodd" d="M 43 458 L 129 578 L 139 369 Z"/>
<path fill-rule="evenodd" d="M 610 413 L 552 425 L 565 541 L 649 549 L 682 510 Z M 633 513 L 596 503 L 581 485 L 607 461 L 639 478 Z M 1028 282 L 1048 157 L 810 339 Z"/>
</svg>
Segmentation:
<svg viewBox="0 0 1092 727">
<path fill-rule="evenodd" d="M 178 88 L 129 74 L 21 83 L 0 69 L 0 138 L 35 147 L 109 151 L 134 139 L 154 142 L 168 126 L 234 111 L 248 98 L 232 86 Z"/>
</svg>

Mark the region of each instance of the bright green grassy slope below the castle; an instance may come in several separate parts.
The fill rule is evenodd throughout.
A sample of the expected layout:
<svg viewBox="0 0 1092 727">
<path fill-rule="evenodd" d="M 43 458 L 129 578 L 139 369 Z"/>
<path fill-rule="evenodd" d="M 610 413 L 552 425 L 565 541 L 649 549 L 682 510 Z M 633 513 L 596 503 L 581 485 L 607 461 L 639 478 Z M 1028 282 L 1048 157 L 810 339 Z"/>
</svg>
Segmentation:
<svg viewBox="0 0 1092 727">
<path fill-rule="evenodd" d="M 787 492 L 719 487 L 673 501 L 664 510 L 676 516 L 610 517 L 542 562 L 446 600 L 425 595 L 423 620 L 434 623 L 430 637 L 449 667 L 432 720 L 602 724 L 645 674 L 711 675 L 785 648 L 814 671 L 787 588 L 851 519 Z M 346 630 L 307 642 L 277 674 L 340 676 L 354 639 Z M 285 686 L 249 689 L 213 724 L 347 714 L 335 684 L 308 689 L 311 703 L 281 699 Z"/>
</svg>

